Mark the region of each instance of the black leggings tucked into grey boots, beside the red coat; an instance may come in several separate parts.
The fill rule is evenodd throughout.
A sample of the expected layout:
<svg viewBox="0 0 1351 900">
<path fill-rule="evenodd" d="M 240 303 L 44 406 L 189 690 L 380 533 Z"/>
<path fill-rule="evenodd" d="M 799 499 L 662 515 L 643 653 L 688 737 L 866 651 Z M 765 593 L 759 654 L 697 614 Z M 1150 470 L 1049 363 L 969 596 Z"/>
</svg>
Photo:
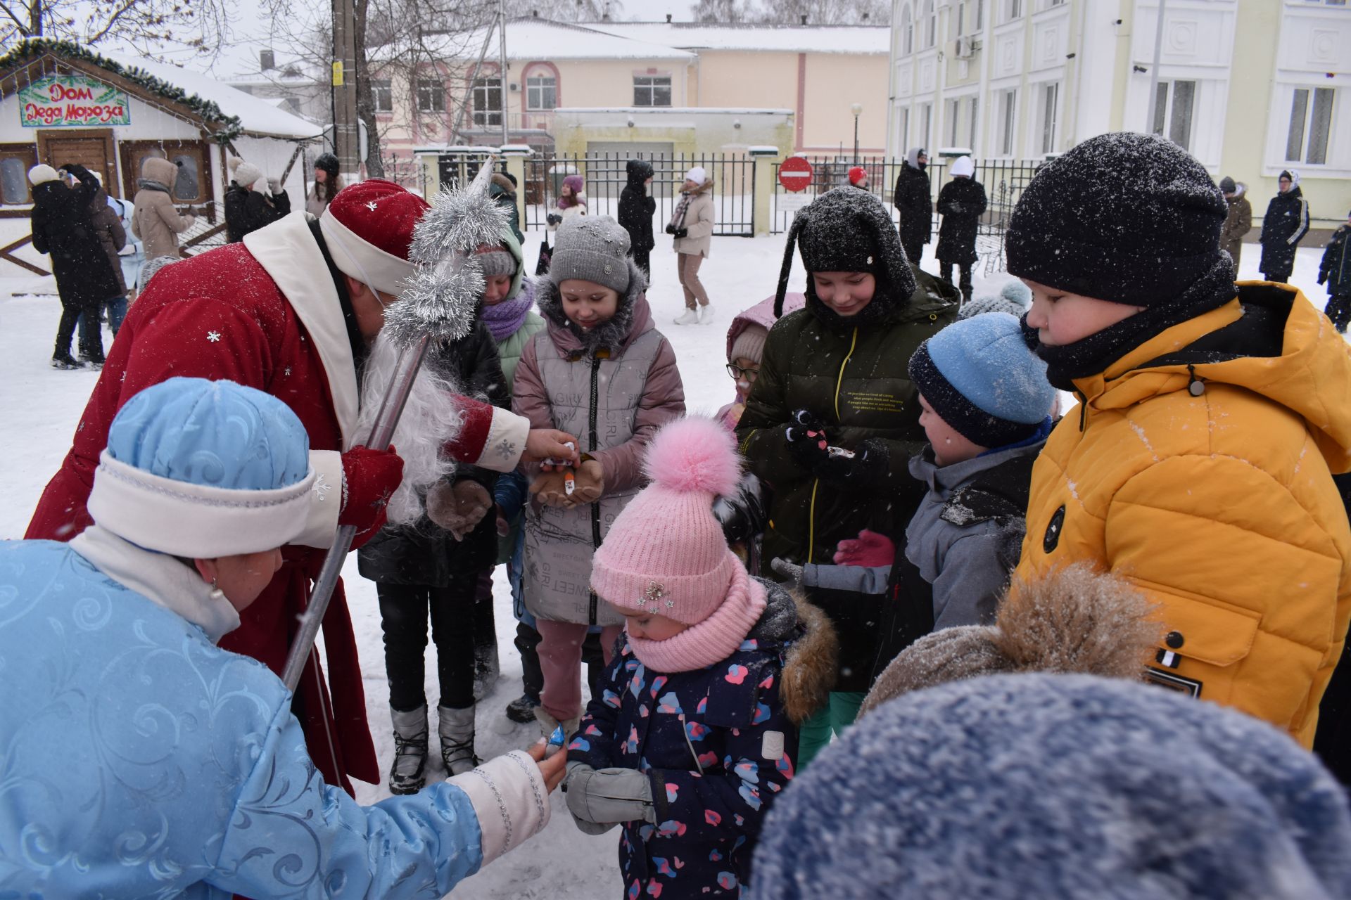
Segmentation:
<svg viewBox="0 0 1351 900">
<path fill-rule="evenodd" d="M 423 684 L 428 610 L 440 706 L 465 710 L 474 704 L 476 582 L 473 576 L 457 576 L 449 587 L 376 584 L 380 625 L 385 631 L 389 706 L 408 712 L 427 703 Z"/>
</svg>

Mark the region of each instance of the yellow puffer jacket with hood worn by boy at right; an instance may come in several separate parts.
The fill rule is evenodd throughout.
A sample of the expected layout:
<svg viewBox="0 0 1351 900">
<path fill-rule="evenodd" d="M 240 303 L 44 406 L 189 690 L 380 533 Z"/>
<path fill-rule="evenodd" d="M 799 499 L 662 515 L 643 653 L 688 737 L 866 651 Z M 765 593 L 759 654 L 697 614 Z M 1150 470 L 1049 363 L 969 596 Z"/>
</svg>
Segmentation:
<svg viewBox="0 0 1351 900">
<path fill-rule="evenodd" d="M 1032 471 L 1019 579 L 1077 560 L 1128 578 L 1167 626 L 1151 680 L 1312 746 L 1351 618 L 1347 351 L 1298 290 L 1243 282 L 1077 381 Z"/>
</svg>

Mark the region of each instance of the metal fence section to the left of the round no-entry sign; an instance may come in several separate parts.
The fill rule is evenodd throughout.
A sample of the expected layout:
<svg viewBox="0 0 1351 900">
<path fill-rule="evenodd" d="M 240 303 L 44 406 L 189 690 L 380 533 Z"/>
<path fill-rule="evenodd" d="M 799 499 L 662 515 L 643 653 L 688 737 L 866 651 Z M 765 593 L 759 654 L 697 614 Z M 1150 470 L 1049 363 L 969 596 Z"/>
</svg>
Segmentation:
<svg viewBox="0 0 1351 900">
<path fill-rule="evenodd" d="M 526 221 L 523 228 L 544 228 L 546 217 L 558 212 L 563 178 L 582 175 L 586 182 L 586 210 L 619 217 L 619 196 L 628 184 L 630 159 L 653 166 L 647 194 L 657 200 L 653 227 L 661 231 L 670 221 L 685 173 L 703 166 L 713 179 L 713 233 L 730 237 L 755 235 L 755 161 L 730 154 L 590 154 L 531 158 L 526 161 Z"/>
</svg>

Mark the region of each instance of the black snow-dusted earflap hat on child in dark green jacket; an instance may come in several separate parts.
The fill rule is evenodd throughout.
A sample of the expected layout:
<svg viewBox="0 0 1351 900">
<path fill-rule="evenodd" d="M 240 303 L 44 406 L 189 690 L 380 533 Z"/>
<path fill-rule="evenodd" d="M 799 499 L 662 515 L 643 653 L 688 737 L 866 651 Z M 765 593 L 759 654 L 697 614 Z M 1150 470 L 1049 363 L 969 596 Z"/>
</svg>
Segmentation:
<svg viewBox="0 0 1351 900">
<path fill-rule="evenodd" d="M 784 293 L 788 290 L 788 277 L 793 270 L 794 243 L 802 254 L 802 266 L 808 274 L 871 273 L 878 282 L 878 294 L 894 298 L 898 305 L 907 304 L 915 293 L 915 274 L 905 258 L 892 215 L 886 212 L 881 200 L 866 190 L 854 188 L 827 190 L 793 217 L 784 248 L 778 291 L 774 297 L 775 317 L 784 313 Z M 816 297 L 811 277 L 807 279 L 807 297 L 809 301 Z"/>
</svg>

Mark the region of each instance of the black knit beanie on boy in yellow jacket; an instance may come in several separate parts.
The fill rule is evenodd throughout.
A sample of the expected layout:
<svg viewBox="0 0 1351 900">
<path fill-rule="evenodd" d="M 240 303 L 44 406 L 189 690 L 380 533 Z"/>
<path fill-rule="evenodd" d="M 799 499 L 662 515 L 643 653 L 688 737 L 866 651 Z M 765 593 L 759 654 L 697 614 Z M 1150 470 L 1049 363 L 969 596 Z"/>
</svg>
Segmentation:
<svg viewBox="0 0 1351 900">
<path fill-rule="evenodd" d="M 1224 194 L 1158 135 L 1090 138 L 1023 190 L 1005 235 L 1008 271 L 1084 297 L 1169 305 L 1220 256 Z"/>
</svg>

